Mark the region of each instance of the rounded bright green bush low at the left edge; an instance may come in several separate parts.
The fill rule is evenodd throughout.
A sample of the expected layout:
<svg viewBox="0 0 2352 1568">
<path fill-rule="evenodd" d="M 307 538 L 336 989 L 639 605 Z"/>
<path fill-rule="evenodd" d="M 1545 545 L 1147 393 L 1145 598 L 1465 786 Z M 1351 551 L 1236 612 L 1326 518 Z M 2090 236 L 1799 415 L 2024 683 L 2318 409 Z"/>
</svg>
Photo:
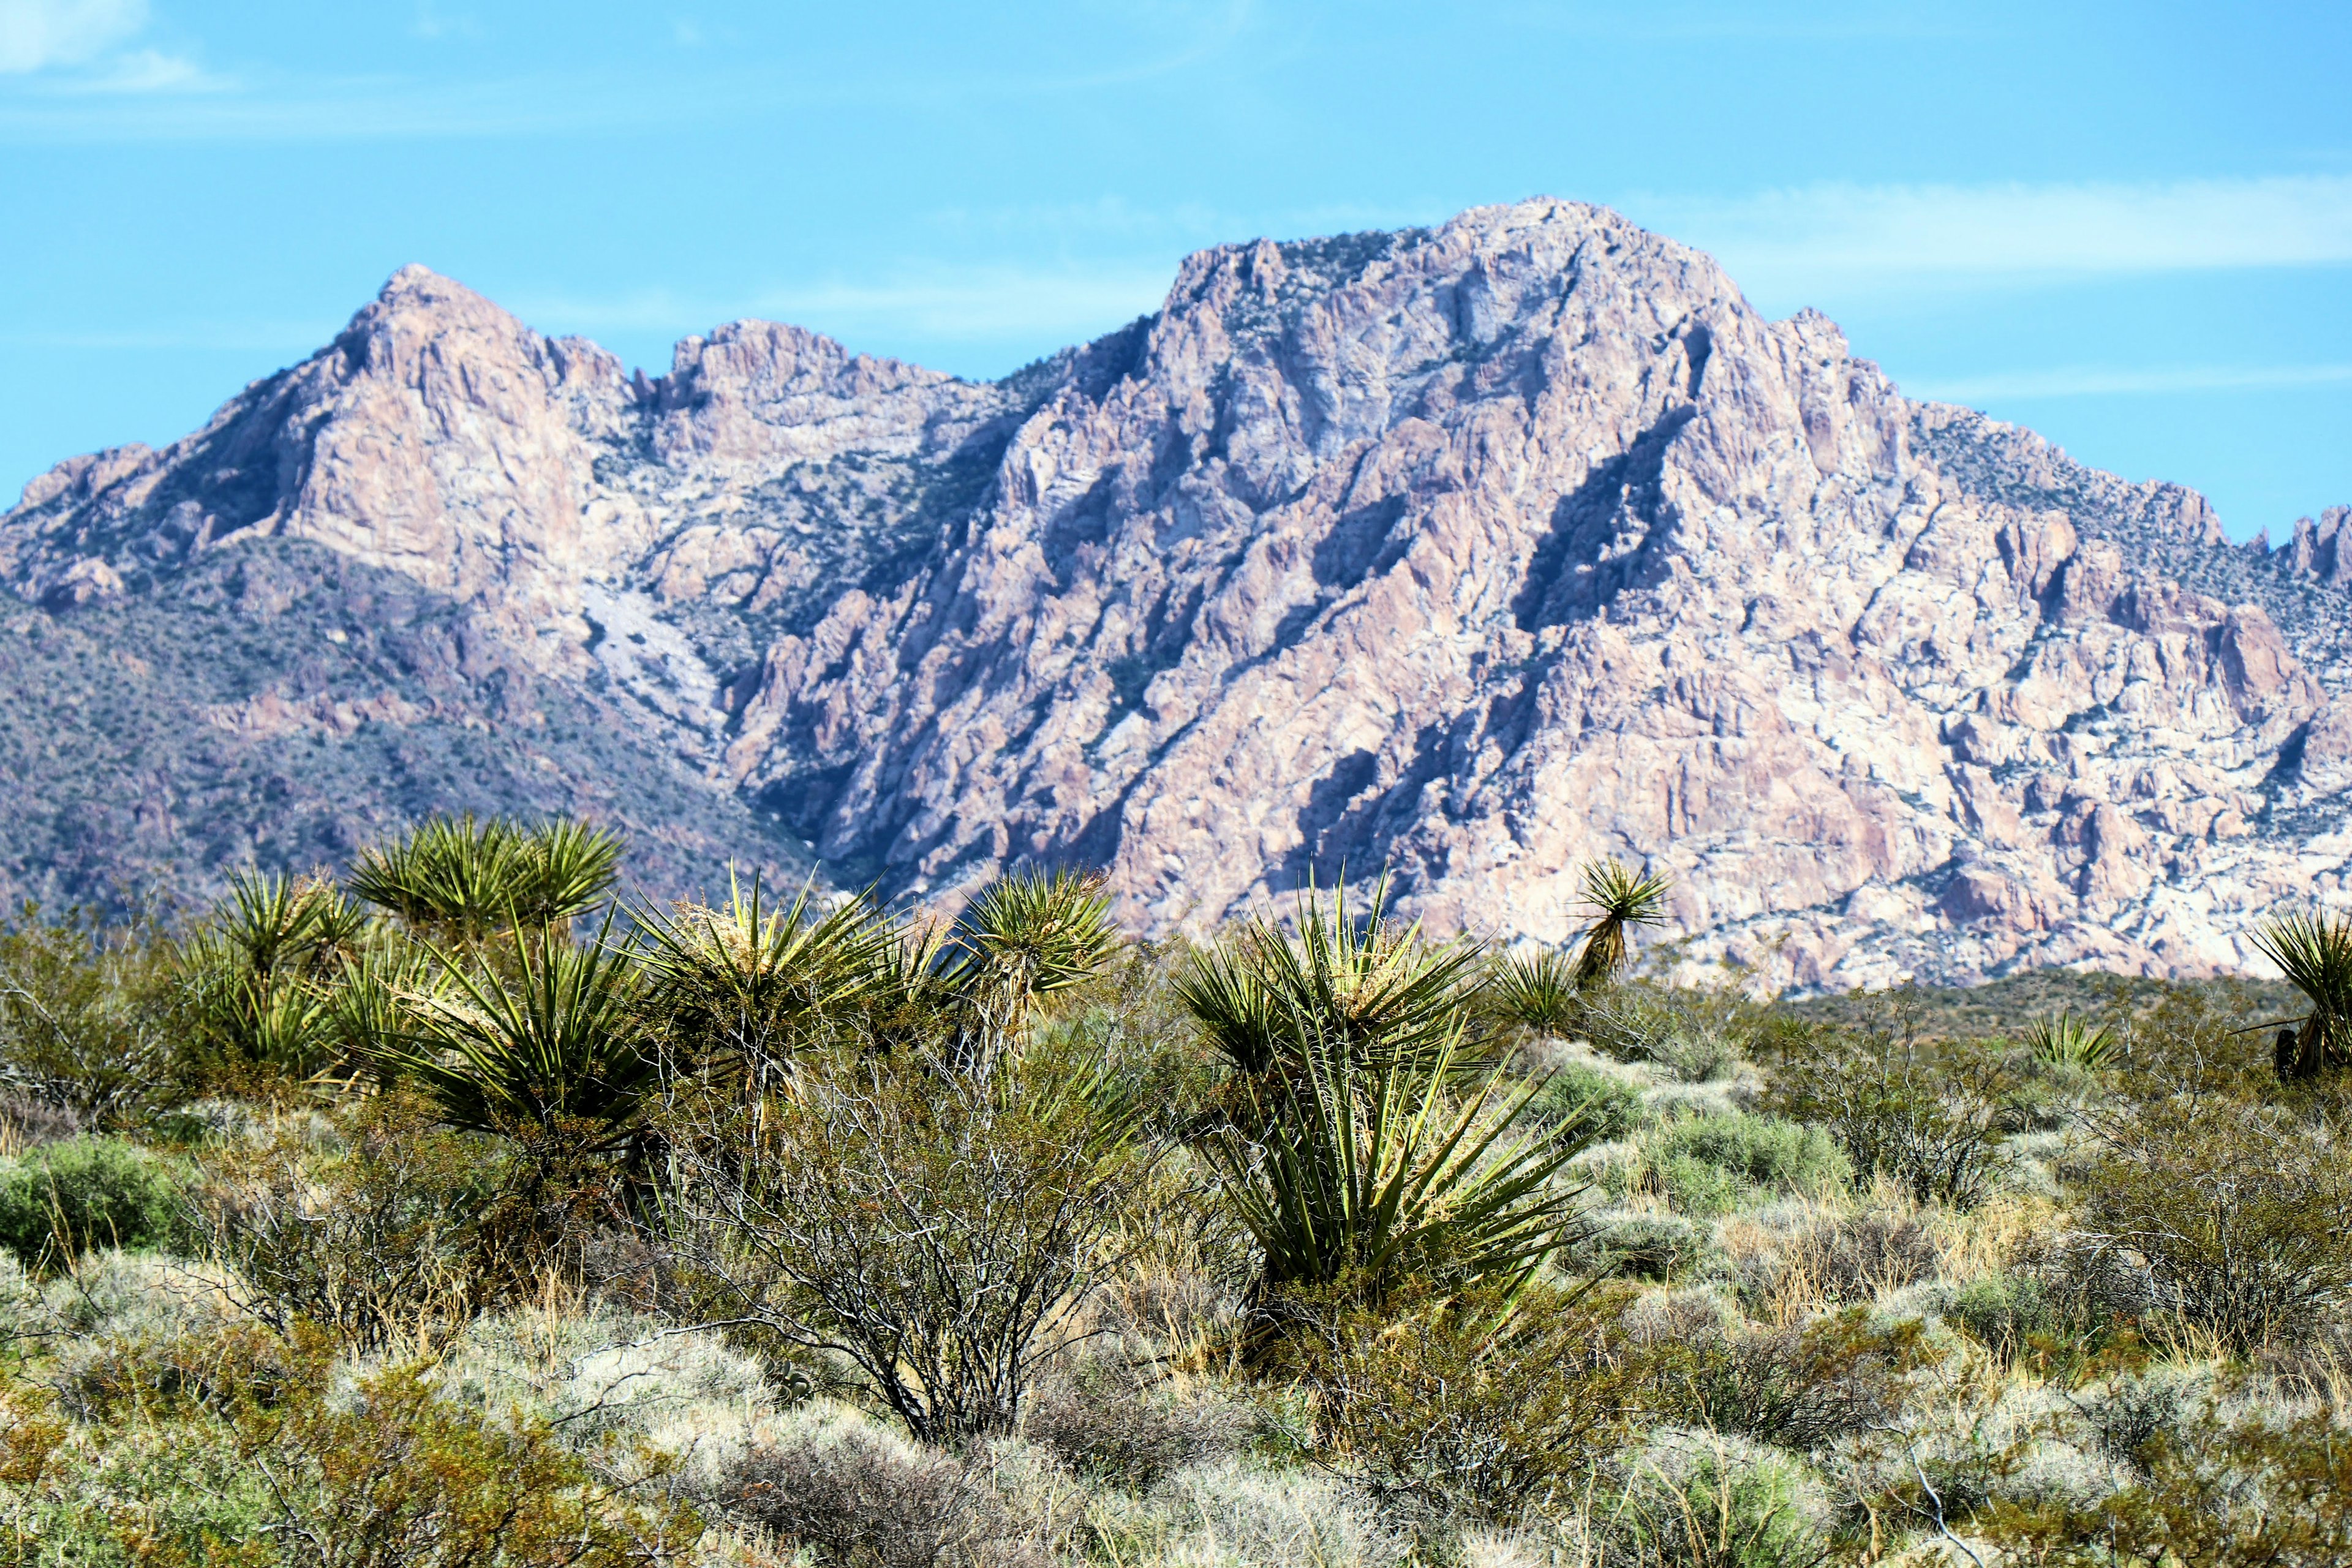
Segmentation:
<svg viewBox="0 0 2352 1568">
<path fill-rule="evenodd" d="M 73 1138 L 0 1168 L 0 1246 L 26 1267 L 94 1246 L 167 1246 L 183 1232 L 179 1173 L 120 1138 Z"/>
</svg>

